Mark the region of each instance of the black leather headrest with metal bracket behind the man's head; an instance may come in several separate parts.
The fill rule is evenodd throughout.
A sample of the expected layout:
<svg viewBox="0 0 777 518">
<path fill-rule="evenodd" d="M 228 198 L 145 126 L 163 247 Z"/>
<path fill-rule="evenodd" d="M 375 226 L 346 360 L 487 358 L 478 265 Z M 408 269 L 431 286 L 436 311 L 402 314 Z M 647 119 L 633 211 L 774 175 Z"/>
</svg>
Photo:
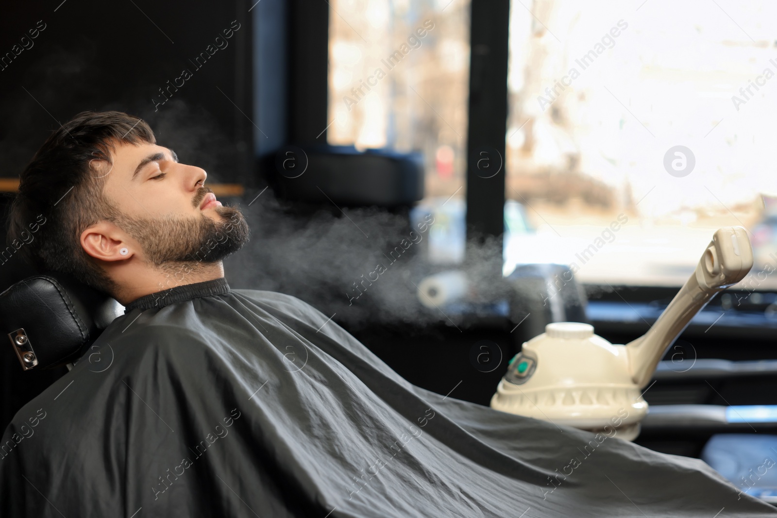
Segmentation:
<svg viewBox="0 0 777 518">
<path fill-rule="evenodd" d="M 78 360 L 114 318 L 116 299 L 64 273 L 20 280 L 0 294 L 0 340 L 9 336 L 24 370 Z"/>
</svg>

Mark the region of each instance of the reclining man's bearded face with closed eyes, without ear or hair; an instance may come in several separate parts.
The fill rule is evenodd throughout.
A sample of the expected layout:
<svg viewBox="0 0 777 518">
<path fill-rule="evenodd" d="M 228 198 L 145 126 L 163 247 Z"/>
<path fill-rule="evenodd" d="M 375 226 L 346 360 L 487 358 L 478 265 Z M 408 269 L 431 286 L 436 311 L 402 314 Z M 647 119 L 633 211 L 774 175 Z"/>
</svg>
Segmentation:
<svg viewBox="0 0 777 518">
<path fill-rule="evenodd" d="M 207 173 L 178 162 L 156 144 L 119 144 L 113 165 L 92 162 L 106 176 L 104 196 L 120 212 L 115 224 L 136 239 L 154 266 L 167 262 L 216 262 L 248 241 L 245 218 L 222 207 L 204 187 Z"/>
</svg>

